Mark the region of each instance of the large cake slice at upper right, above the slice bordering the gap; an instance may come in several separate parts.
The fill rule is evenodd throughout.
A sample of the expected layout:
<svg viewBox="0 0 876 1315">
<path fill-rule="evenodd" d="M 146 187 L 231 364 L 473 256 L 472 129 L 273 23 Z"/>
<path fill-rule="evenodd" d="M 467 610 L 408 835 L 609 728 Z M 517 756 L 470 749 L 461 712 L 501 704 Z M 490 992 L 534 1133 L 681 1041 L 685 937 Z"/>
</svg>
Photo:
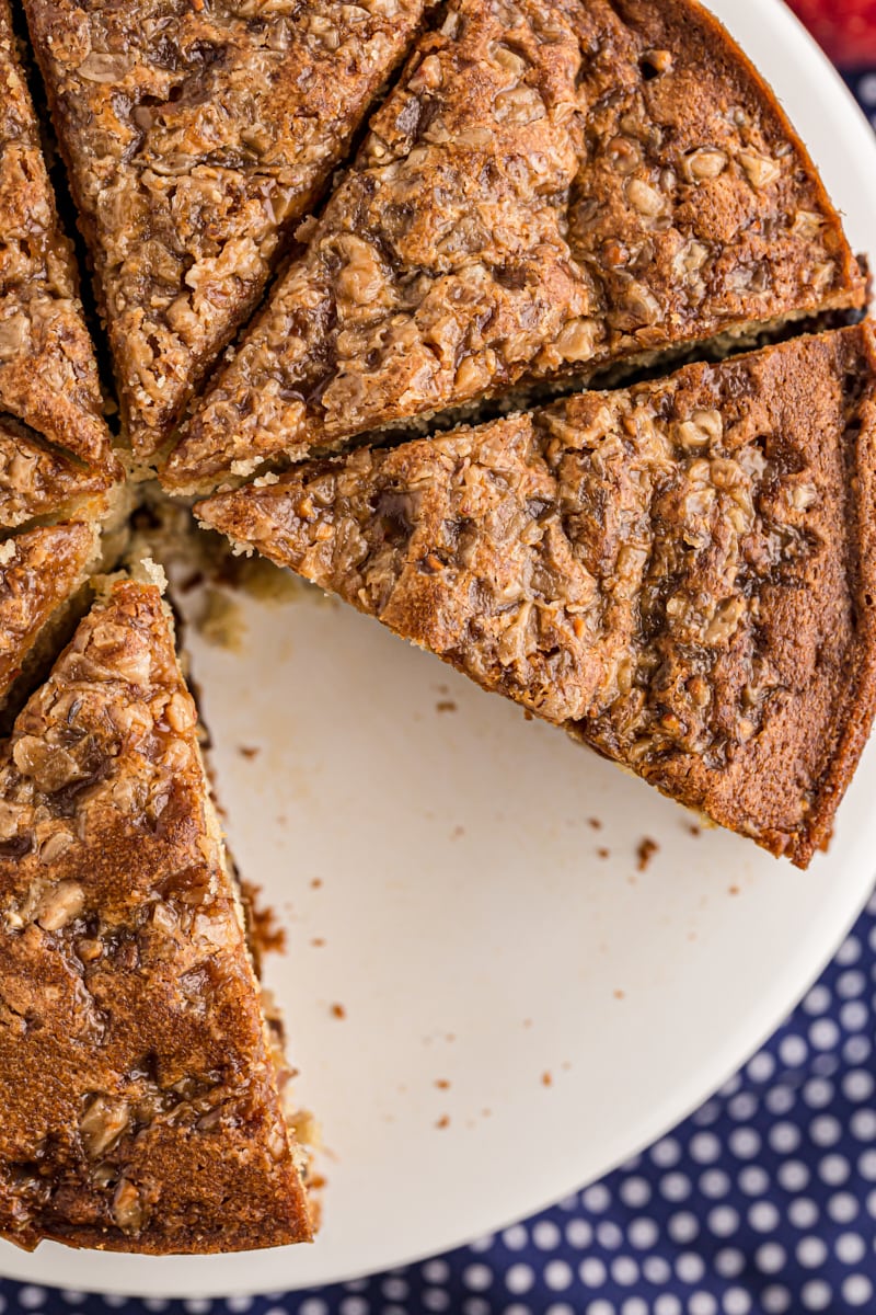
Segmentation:
<svg viewBox="0 0 876 1315">
<path fill-rule="evenodd" d="M 800 139 L 693 0 L 452 0 L 164 480 L 863 297 Z"/>
</svg>

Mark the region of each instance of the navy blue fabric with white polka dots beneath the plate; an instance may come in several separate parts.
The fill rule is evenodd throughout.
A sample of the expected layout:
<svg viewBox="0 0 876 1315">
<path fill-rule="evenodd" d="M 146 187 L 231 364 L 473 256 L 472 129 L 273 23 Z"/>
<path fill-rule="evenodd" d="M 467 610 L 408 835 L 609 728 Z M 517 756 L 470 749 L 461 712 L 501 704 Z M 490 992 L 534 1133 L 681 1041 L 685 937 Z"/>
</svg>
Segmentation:
<svg viewBox="0 0 876 1315">
<path fill-rule="evenodd" d="M 603 1182 L 493 1237 L 310 1293 L 123 1301 L 0 1283 L 0 1315 L 872 1315 L 876 896 L 793 1016 Z"/>
</svg>

